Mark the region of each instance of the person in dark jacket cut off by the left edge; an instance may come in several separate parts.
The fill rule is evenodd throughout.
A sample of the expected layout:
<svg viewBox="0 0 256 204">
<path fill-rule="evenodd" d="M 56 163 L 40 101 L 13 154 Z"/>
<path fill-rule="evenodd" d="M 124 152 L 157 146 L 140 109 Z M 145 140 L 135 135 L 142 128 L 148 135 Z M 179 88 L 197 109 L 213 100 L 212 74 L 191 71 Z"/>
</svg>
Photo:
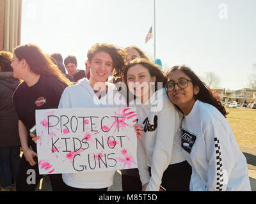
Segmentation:
<svg viewBox="0 0 256 204">
<path fill-rule="evenodd" d="M 10 191 L 20 164 L 18 117 L 12 95 L 20 81 L 13 77 L 11 52 L 0 52 L 0 184 L 1 191 Z M 14 188 L 15 189 L 15 188 Z"/>
</svg>

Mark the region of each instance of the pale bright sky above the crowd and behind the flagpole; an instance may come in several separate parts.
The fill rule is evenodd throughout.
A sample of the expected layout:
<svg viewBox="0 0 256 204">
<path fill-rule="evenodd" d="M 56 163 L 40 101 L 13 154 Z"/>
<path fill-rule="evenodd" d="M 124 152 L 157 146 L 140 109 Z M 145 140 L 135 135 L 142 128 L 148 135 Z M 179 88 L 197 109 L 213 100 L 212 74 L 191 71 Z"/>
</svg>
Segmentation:
<svg viewBox="0 0 256 204">
<path fill-rule="evenodd" d="M 75 55 L 84 69 L 94 43 L 136 45 L 154 57 L 154 0 L 23 0 L 21 44 Z M 220 87 L 248 87 L 256 63 L 255 0 L 156 0 L 156 58 L 164 71 L 185 64 Z M 154 33 L 153 33 L 154 34 Z"/>
</svg>

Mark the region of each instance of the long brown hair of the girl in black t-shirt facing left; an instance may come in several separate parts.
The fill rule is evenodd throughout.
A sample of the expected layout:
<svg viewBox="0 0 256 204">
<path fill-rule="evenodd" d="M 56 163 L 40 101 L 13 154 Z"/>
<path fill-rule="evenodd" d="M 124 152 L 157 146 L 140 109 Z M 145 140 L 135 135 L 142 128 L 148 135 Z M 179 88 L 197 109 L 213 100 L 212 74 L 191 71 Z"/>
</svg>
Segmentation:
<svg viewBox="0 0 256 204">
<path fill-rule="evenodd" d="M 67 85 L 72 85 L 56 64 L 42 52 L 40 47 L 33 43 L 20 45 L 13 50 L 16 57 L 20 60 L 25 59 L 30 70 L 37 75 L 49 75 L 56 77 Z"/>
</svg>

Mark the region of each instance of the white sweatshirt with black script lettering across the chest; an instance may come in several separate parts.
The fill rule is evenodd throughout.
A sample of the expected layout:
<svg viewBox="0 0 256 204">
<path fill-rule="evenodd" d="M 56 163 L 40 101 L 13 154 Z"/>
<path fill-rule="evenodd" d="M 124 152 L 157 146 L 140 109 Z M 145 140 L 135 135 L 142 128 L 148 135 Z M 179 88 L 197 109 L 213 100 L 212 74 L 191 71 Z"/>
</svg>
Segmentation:
<svg viewBox="0 0 256 204">
<path fill-rule="evenodd" d="M 130 103 L 137 108 L 138 124 L 144 133 L 138 140 L 138 169 L 142 184 L 148 182 L 146 191 L 159 191 L 166 168 L 185 161 L 180 147 L 183 115 L 170 103 L 164 89 L 155 92 L 148 102 L 140 104 L 137 98 Z M 151 177 L 148 166 L 151 167 Z"/>
</svg>

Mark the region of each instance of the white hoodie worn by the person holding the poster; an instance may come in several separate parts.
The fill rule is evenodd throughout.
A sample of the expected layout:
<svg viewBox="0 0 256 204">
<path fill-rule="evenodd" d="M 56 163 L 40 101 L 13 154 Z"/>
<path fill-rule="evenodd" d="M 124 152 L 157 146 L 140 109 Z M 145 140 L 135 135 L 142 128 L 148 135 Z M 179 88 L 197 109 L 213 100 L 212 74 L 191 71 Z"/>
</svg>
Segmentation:
<svg viewBox="0 0 256 204">
<path fill-rule="evenodd" d="M 108 92 L 98 98 L 86 78 L 63 92 L 58 108 L 100 108 L 127 106 L 125 98 L 118 93 L 114 84 L 108 83 Z M 68 186 L 76 188 L 101 189 L 113 184 L 115 171 L 86 173 L 63 173 L 62 179 Z"/>
</svg>

